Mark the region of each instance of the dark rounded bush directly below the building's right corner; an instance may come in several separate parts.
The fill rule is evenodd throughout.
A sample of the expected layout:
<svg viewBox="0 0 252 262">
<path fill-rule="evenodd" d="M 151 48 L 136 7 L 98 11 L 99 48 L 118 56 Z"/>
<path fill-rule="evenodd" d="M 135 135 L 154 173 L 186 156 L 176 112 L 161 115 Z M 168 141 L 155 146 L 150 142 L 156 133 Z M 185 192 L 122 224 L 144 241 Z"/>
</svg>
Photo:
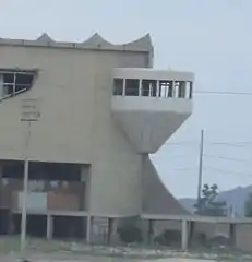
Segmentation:
<svg viewBox="0 0 252 262">
<path fill-rule="evenodd" d="M 125 226 L 118 229 L 121 241 L 125 243 L 142 242 L 142 231 L 136 226 Z"/>
</svg>

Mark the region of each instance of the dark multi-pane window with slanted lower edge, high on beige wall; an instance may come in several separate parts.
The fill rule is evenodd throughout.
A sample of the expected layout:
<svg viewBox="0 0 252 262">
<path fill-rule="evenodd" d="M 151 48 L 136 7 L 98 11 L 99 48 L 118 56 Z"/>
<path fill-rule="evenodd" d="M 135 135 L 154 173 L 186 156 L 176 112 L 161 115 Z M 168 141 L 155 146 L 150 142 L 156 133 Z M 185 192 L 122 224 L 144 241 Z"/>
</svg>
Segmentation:
<svg viewBox="0 0 252 262">
<path fill-rule="evenodd" d="M 13 96 L 27 91 L 33 85 L 35 72 L 25 71 L 0 71 L 2 97 Z"/>
</svg>

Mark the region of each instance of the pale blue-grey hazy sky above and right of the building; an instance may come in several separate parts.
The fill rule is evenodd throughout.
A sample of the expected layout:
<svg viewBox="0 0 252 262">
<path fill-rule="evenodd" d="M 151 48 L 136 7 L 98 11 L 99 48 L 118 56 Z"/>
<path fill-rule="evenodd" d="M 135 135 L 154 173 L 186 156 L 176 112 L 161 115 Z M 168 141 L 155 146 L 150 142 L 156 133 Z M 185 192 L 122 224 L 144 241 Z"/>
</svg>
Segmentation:
<svg viewBox="0 0 252 262">
<path fill-rule="evenodd" d="M 189 120 L 153 156 L 178 198 L 195 196 L 200 135 L 204 129 L 203 182 L 219 190 L 252 184 L 251 0 L 0 0 L 0 37 L 83 41 L 98 32 L 127 43 L 149 33 L 154 67 L 193 71 Z"/>
</svg>

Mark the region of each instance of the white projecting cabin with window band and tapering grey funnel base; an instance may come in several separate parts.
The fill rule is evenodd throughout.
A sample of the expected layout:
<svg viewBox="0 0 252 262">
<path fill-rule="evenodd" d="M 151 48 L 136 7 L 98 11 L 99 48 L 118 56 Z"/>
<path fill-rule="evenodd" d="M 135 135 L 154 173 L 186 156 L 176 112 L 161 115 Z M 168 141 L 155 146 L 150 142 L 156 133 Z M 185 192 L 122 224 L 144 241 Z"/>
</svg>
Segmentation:
<svg viewBox="0 0 252 262">
<path fill-rule="evenodd" d="M 137 153 L 155 153 L 192 114 L 194 74 L 113 69 L 112 115 Z"/>
</svg>

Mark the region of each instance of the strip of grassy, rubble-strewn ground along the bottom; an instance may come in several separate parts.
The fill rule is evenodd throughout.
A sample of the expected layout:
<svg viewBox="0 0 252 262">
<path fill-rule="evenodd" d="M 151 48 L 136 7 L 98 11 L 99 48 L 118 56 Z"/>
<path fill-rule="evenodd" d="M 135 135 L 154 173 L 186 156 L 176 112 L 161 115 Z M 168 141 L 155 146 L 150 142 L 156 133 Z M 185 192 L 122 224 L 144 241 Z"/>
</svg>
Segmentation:
<svg viewBox="0 0 252 262">
<path fill-rule="evenodd" d="M 251 255 L 242 253 L 181 252 L 144 247 L 87 246 L 81 242 L 46 241 L 29 239 L 27 258 L 31 262 L 202 262 L 240 261 L 252 262 Z M 19 238 L 0 238 L 0 262 L 14 262 L 19 258 Z M 204 259 L 204 260 L 203 260 Z"/>
</svg>

